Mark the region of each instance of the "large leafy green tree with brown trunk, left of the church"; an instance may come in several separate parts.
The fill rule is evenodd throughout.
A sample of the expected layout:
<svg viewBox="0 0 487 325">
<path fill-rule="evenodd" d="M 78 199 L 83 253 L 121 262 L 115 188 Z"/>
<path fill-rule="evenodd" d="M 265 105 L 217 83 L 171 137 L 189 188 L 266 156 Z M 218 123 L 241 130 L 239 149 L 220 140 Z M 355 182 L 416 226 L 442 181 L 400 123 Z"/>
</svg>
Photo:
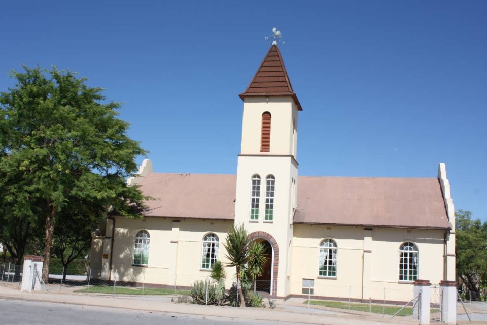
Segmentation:
<svg viewBox="0 0 487 325">
<path fill-rule="evenodd" d="M 10 74 L 15 87 L 0 93 L 0 174 L 7 177 L 1 190 L 38 203 L 47 281 L 56 221 L 68 205 L 102 204 L 126 217 L 140 215 L 145 197 L 125 179 L 146 151 L 127 136 L 128 123 L 117 118 L 120 104 L 106 101 L 101 88 L 71 71 L 23 68 Z"/>
</svg>

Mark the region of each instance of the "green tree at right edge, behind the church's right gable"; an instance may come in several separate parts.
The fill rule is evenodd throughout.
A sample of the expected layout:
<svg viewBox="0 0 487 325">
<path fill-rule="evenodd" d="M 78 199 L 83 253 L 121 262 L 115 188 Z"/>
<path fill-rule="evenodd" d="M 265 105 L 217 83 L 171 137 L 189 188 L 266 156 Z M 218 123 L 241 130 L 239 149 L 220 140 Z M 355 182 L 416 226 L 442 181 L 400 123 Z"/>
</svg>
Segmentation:
<svg viewBox="0 0 487 325">
<path fill-rule="evenodd" d="M 487 222 L 472 220 L 470 211 L 455 215 L 457 276 L 480 299 L 480 285 L 487 284 Z"/>
</svg>

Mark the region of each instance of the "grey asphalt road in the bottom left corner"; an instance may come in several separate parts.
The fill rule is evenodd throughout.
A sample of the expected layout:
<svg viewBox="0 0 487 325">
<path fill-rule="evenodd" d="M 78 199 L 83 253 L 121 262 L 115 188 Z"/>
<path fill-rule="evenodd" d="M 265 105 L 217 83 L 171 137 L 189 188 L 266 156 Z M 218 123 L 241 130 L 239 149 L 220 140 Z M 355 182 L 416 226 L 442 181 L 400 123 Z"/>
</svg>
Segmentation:
<svg viewBox="0 0 487 325">
<path fill-rule="evenodd" d="M 2 325 L 277 325 L 279 322 L 0 299 Z M 288 323 L 290 324 L 290 323 Z"/>
</svg>

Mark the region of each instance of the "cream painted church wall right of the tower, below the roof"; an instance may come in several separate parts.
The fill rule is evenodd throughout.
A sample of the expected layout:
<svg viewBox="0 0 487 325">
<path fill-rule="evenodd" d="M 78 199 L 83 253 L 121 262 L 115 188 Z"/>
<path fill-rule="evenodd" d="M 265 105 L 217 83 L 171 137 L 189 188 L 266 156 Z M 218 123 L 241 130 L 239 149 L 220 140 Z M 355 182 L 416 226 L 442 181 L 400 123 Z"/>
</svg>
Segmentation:
<svg viewBox="0 0 487 325">
<path fill-rule="evenodd" d="M 399 247 L 405 241 L 414 242 L 419 249 L 419 278 L 439 283 L 443 279 L 444 231 L 409 231 L 295 224 L 291 294 L 301 294 L 304 278 L 315 280 L 314 294 L 317 296 L 346 299 L 350 293 L 353 299 L 381 300 L 386 293 L 386 300 L 412 299 L 412 283 L 399 281 Z M 367 237 L 367 233 L 371 236 Z M 338 247 L 334 279 L 318 276 L 318 247 L 324 238 L 334 239 Z M 364 277 L 364 274 L 369 275 Z"/>
</svg>

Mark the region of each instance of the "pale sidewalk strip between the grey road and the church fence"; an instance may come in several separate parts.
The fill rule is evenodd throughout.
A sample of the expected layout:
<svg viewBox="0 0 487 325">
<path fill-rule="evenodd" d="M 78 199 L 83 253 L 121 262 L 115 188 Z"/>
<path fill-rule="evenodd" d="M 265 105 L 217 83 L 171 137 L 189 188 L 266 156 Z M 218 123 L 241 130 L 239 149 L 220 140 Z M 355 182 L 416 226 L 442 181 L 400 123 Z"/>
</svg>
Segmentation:
<svg viewBox="0 0 487 325">
<path fill-rule="evenodd" d="M 382 315 L 341 314 L 338 311 L 303 308 L 302 299 L 279 301 L 276 309 L 235 308 L 176 304 L 172 302 L 143 300 L 141 297 L 118 298 L 94 294 L 60 294 L 54 292 L 21 292 L 18 284 L 0 283 L 0 297 L 62 304 L 76 304 L 107 308 L 123 308 L 153 312 L 189 314 L 261 321 L 279 321 L 305 324 L 415 324 L 412 317 L 382 317 Z M 294 306 L 289 308 L 290 306 Z"/>
</svg>

